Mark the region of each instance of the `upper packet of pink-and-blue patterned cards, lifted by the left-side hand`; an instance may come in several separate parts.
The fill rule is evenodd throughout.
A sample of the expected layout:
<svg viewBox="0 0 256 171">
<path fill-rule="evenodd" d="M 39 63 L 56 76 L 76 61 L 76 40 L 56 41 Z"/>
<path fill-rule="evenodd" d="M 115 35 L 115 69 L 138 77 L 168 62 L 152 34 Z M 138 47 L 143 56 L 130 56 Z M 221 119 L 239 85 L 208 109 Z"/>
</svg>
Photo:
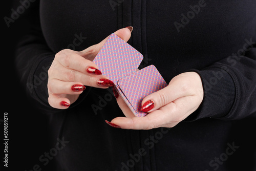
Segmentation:
<svg viewBox="0 0 256 171">
<path fill-rule="evenodd" d="M 142 61 L 142 54 L 112 33 L 94 58 L 102 75 L 109 77 L 115 84 L 117 81 L 133 72 Z"/>
</svg>

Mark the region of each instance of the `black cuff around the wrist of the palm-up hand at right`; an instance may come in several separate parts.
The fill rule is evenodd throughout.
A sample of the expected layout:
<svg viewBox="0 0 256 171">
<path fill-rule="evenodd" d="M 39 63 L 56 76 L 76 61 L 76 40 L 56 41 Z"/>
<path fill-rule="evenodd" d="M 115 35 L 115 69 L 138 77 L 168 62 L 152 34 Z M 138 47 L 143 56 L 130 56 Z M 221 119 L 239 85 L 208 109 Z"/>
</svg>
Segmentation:
<svg viewBox="0 0 256 171">
<path fill-rule="evenodd" d="M 184 121 L 194 121 L 200 118 L 225 118 L 230 112 L 236 88 L 229 70 L 225 66 L 214 66 L 202 71 L 189 70 L 200 75 L 203 83 L 204 98 L 199 108 Z"/>
</svg>

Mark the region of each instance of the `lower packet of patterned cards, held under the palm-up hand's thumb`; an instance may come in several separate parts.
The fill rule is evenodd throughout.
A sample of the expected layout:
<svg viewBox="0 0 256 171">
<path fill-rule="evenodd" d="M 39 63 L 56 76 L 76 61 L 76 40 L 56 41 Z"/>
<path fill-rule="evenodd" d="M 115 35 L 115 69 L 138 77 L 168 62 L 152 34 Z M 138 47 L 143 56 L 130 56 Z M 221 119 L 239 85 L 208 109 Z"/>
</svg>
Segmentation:
<svg viewBox="0 0 256 171">
<path fill-rule="evenodd" d="M 142 117 L 146 113 L 141 112 L 141 102 L 144 97 L 167 86 L 161 74 L 155 66 L 151 65 L 130 76 L 120 79 L 118 86 L 126 97 L 126 104 L 133 108 L 136 116 Z"/>
</svg>

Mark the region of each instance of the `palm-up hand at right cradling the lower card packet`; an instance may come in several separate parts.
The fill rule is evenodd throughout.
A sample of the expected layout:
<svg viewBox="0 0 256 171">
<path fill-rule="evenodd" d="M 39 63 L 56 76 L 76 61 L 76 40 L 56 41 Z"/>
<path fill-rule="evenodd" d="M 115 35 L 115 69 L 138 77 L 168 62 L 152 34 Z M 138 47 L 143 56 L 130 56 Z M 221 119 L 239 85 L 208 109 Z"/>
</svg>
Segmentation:
<svg viewBox="0 0 256 171">
<path fill-rule="evenodd" d="M 142 100 L 142 106 L 149 100 L 154 102 L 144 117 L 136 117 L 119 96 L 117 102 L 126 117 L 114 118 L 111 123 L 132 130 L 174 127 L 198 109 L 203 96 L 201 77 L 196 72 L 185 72 L 174 77 L 164 89 Z"/>
</svg>

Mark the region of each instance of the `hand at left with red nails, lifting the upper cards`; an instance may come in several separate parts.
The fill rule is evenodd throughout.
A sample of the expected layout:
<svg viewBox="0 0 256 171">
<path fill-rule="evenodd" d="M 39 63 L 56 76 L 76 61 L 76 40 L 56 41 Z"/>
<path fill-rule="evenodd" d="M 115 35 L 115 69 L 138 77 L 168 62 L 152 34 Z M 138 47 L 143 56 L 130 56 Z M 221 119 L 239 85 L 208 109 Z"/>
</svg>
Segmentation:
<svg viewBox="0 0 256 171">
<path fill-rule="evenodd" d="M 131 37 L 131 31 L 127 28 L 117 30 L 115 34 L 124 41 Z M 102 89 L 113 86 L 113 82 L 101 75 L 96 64 L 92 62 L 107 39 L 108 37 L 83 51 L 64 49 L 55 55 L 48 70 L 47 84 L 48 102 L 53 108 L 69 108 L 86 89 L 85 86 Z"/>
</svg>

